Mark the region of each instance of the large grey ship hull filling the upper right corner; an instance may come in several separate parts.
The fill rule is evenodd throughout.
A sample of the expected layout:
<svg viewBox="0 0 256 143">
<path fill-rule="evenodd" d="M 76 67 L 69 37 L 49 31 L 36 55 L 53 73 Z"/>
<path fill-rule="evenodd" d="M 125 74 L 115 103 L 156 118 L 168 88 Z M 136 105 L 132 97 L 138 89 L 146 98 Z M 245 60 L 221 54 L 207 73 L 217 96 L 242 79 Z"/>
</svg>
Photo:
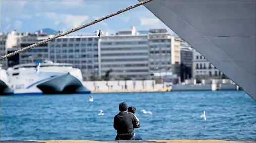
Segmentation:
<svg viewBox="0 0 256 143">
<path fill-rule="evenodd" d="M 154 0 L 144 6 L 256 100 L 256 0 Z"/>
</svg>

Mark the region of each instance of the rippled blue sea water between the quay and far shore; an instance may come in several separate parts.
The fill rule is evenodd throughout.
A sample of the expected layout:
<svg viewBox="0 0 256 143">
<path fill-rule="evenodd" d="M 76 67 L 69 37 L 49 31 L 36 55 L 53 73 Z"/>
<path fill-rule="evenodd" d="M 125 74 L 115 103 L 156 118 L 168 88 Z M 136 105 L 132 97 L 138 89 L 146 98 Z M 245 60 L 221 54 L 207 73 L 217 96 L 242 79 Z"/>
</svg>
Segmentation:
<svg viewBox="0 0 256 143">
<path fill-rule="evenodd" d="M 143 139 L 256 139 L 256 102 L 243 91 L 92 95 L 2 96 L 1 140 L 114 140 L 120 102 L 137 108 Z"/>
</svg>

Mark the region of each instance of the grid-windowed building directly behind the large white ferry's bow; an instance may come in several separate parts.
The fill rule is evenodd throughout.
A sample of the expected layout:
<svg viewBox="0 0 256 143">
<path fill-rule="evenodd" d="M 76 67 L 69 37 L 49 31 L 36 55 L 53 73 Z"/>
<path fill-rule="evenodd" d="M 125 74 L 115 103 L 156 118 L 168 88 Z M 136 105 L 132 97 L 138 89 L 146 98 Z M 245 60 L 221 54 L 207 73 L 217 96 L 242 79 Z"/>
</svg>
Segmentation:
<svg viewBox="0 0 256 143">
<path fill-rule="evenodd" d="M 99 37 L 62 36 L 49 43 L 49 59 L 71 63 L 84 74 L 99 74 Z"/>
</svg>

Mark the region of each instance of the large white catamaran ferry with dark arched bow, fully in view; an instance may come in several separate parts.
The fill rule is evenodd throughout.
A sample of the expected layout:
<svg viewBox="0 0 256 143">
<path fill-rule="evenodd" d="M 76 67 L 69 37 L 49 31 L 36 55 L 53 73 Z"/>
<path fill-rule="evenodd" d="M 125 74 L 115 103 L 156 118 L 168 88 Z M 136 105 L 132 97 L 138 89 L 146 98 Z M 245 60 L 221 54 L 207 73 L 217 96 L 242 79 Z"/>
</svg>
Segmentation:
<svg viewBox="0 0 256 143">
<path fill-rule="evenodd" d="M 81 70 L 72 64 L 38 61 L 15 65 L 7 73 L 14 95 L 91 93 L 83 86 Z"/>
</svg>

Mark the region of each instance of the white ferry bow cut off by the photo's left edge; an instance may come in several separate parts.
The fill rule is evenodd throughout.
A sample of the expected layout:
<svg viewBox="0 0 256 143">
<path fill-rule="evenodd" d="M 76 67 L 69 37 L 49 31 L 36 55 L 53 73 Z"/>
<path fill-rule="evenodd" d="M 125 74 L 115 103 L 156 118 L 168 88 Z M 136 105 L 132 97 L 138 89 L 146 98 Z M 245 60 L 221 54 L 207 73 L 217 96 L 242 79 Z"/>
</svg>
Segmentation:
<svg viewBox="0 0 256 143">
<path fill-rule="evenodd" d="M 9 79 L 6 70 L 2 69 L 0 66 L 0 76 L 1 76 L 1 93 L 0 95 L 9 95 L 12 94 L 12 90 L 10 88 Z"/>
</svg>

